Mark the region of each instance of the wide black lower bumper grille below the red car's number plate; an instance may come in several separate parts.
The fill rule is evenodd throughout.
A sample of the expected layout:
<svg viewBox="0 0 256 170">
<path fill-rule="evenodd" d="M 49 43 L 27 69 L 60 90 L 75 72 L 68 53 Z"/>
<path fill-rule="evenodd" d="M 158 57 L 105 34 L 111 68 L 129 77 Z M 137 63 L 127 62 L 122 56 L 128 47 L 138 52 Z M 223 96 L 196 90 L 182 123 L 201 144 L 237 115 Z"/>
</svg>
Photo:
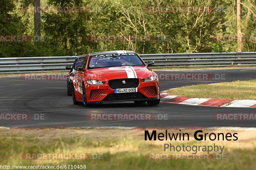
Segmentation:
<svg viewBox="0 0 256 170">
<path fill-rule="evenodd" d="M 103 101 L 120 101 L 120 100 L 135 100 L 135 99 L 145 99 L 146 96 L 141 93 L 117 93 L 108 95 Z"/>
</svg>

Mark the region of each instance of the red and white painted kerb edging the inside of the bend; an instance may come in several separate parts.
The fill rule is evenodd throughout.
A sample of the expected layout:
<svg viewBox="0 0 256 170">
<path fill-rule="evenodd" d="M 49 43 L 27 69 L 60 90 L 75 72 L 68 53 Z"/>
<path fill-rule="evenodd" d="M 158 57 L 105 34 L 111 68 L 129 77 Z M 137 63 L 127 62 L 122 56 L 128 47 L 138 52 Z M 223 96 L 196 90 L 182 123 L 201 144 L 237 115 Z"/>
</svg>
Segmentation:
<svg viewBox="0 0 256 170">
<path fill-rule="evenodd" d="M 186 104 L 194 106 L 212 106 L 212 107 L 256 107 L 256 100 L 224 100 L 224 99 L 208 99 L 208 98 L 192 98 L 185 96 L 168 95 L 162 91 L 160 93 L 161 102 Z"/>
</svg>

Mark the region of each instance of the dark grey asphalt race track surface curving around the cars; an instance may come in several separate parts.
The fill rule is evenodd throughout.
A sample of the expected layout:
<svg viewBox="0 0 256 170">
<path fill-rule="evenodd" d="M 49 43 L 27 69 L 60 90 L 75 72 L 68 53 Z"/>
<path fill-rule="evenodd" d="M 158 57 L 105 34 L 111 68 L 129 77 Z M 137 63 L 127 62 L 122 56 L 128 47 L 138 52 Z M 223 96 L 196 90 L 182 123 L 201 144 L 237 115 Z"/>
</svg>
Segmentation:
<svg viewBox="0 0 256 170">
<path fill-rule="evenodd" d="M 171 73 L 225 74 L 225 80 L 160 80 L 161 91 L 198 83 L 217 83 L 256 78 L 256 69 L 208 69 L 156 71 Z M 72 103 L 66 94 L 66 80 L 22 80 L 18 77 L 0 78 L 0 113 L 44 114 L 45 120 L 1 120 L 5 127 L 256 127 L 255 121 L 214 120 L 216 113 L 256 113 L 255 108 L 221 108 L 160 103 L 148 106 L 133 102 L 95 104 L 90 108 Z M 92 121 L 90 113 L 153 113 L 168 114 L 168 120 L 102 120 Z"/>
</svg>

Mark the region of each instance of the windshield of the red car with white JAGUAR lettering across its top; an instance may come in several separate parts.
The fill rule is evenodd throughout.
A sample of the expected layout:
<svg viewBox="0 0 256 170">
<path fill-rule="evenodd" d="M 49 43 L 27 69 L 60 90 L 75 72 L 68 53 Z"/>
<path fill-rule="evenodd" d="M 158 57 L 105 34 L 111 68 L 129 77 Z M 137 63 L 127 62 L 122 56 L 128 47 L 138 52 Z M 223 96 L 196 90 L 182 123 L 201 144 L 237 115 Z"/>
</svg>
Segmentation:
<svg viewBox="0 0 256 170">
<path fill-rule="evenodd" d="M 92 56 L 89 69 L 116 66 L 145 66 L 140 58 L 134 54 L 107 54 Z"/>
</svg>

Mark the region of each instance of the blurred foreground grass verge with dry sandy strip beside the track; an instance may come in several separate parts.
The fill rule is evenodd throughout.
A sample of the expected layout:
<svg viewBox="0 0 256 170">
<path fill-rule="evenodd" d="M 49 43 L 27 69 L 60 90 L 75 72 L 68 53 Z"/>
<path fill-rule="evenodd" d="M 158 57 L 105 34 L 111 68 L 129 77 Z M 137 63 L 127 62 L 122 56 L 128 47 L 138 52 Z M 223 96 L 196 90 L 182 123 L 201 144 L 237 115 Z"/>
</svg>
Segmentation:
<svg viewBox="0 0 256 170">
<path fill-rule="evenodd" d="M 157 130 L 164 132 L 165 130 Z M 179 129 L 168 130 L 179 132 Z M 182 129 L 193 136 L 196 130 Z M 255 169 L 255 131 L 237 132 L 238 141 L 144 141 L 144 130 L 10 129 L 0 130 L 1 165 L 86 165 L 86 169 Z M 163 153 L 172 145 L 224 145 L 226 159 L 148 160 L 146 153 Z M 96 160 L 27 160 L 22 153 L 103 153 Z M 69 168 L 71 169 L 71 168 Z"/>
</svg>

